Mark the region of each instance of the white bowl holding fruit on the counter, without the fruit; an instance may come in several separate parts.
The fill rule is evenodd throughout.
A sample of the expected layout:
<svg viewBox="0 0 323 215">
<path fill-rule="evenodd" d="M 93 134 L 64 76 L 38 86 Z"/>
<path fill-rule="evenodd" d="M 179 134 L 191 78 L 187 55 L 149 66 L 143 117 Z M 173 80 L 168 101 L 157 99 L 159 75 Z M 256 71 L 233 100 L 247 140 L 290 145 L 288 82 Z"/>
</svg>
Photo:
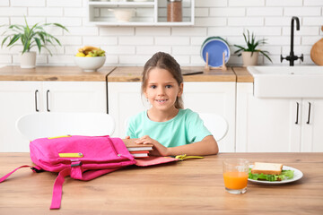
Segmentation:
<svg viewBox="0 0 323 215">
<path fill-rule="evenodd" d="M 77 66 L 83 69 L 84 72 L 95 72 L 105 62 L 106 56 L 74 56 L 74 62 Z"/>
</svg>

